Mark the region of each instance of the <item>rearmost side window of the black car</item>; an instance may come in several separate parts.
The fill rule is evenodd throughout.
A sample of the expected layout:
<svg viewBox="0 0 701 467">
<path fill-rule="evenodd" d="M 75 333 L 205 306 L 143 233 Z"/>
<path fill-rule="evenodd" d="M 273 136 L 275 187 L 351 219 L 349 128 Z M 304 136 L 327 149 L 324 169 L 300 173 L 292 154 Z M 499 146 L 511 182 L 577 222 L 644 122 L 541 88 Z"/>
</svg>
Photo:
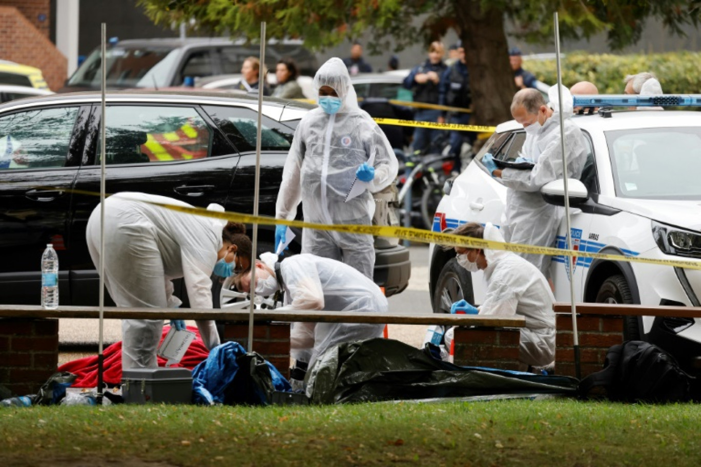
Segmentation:
<svg viewBox="0 0 701 467">
<path fill-rule="evenodd" d="M 246 107 L 207 106 L 205 111 L 215 120 L 231 144 L 240 152 L 255 151 L 257 113 Z M 294 130 L 271 118 L 263 116 L 261 149 L 263 151 L 289 151 Z"/>
</svg>

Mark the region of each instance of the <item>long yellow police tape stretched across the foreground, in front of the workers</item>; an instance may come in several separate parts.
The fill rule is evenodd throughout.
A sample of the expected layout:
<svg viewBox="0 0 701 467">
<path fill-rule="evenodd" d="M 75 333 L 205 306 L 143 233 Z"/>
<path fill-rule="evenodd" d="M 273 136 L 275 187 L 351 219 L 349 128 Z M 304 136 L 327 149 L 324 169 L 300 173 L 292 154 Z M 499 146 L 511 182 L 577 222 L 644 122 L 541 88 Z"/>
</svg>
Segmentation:
<svg viewBox="0 0 701 467">
<path fill-rule="evenodd" d="M 70 188 L 55 188 L 38 186 L 37 190 L 59 190 L 66 193 L 74 193 L 76 195 L 100 196 L 100 193 L 86 190 L 74 190 Z M 111 195 L 105 195 L 109 197 Z M 289 225 L 290 227 L 306 228 L 314 230 L 325 230 L 334 232 L 346 232 L 358 235 L 373 235 L 374 237 L 391 237 L 411 242 L 435 243 L 443 246 L 462 246 L 464 248 L 474 249 L 490 249 L 513 251 L 514 253 L 530 253 L 536 255 L 548 256 L 571 256 L 576 258 L 594 258 L 600 260 L 625 261 L 627 263 L 645 263 L 660 266 L 685 267 L 686 269 L 701 270 L 701 261 L 682 261 L 682 260 L 659 260 L 655 258 L 641 258 L 640 256 L 622 256 L 611 255 L 608 253 L 592 253 L 590 251 L 566 250 L 553 248 L 552 246 L 533 246 L 516 243 L 495 242 L 494 240 L 485 240 L 472 237 L 464 237 L 463 235 L 455 235 L 451 233 L 433 232 L 432 230 L 423 230 L 409 227 L 391 227 L 381 225 L 351 225 L 351 224 L 319 224 L 306 221 L 287 221 L 287 219 L 276 219 L 268 216 L 253 216 L 252 214 L 241 214 L 238 212 L 217 212 L 207 211 L 201 207 L 184 207 L 176 206 L 175 204 L 159 203 L 144 200 L 135 200 L 139 202 L 147 202 L 154 206 L 163 207 L 172 211 L 178 211 L 185 214 L 193 214 L 195 216 L 204 216 L 215 219 L 224 219 L 225 221 L 233 221 L 247 224 L 261 225 Z"/>
</svg>

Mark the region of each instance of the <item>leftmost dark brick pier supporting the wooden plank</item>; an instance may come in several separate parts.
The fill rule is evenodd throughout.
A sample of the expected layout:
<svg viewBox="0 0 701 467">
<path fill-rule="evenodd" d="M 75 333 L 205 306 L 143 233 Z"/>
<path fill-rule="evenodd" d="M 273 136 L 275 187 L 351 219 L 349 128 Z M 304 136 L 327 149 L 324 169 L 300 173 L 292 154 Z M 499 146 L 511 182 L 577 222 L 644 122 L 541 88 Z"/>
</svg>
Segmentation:
<svg viewBox="0 0 701 467">
<path fill-rule="evenodd" d="M 57 366 L 57 319 L 0 319 L 0 384 L 33 394 Z"/>
</svg>

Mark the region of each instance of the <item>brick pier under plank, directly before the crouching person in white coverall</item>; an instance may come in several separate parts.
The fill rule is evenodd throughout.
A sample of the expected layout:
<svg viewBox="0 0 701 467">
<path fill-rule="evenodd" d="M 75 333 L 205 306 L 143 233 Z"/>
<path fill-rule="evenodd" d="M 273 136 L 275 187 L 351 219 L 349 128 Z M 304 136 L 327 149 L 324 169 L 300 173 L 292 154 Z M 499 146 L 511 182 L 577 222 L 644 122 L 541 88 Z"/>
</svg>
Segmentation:
<svg viewBox="0 0 701 467">
<path fill-rule="evenodd" d="M 518 329 L 456 328 L 454 362 L 518 370 L 520 336 Z"/>
</svg>

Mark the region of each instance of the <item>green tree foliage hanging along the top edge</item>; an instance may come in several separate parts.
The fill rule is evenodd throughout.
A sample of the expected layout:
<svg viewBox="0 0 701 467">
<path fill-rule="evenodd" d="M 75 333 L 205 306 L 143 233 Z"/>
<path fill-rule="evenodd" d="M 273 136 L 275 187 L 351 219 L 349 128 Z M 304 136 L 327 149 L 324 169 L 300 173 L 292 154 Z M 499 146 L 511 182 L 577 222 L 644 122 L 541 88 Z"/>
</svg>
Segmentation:
<svg viewBox="0 0 701 467">
<path fill-rule="evenodd" d="M 681 26 L 701 24 L 701 0 L 138 0 L 160 25 L 193 18 L 200 29 L 256 39 L 261 21 L 269 37 L 302 37 L 310 48 L 334 46 L 371 31 L 374 47 L 391 37 L 399 48 L 438 39 L 448 29 L 470 34 L 458 18 L 479 20 L 500 11 L 516 25 L 515 35 L 552 42 L 553 12 L 559 12 L 562 39 L 587 39 L 606 32 L 612 49 L 640 39 L 648 18 L 683 34 Z M 414 25 L 418 17 L 423 25 Z"/>
</svg>

